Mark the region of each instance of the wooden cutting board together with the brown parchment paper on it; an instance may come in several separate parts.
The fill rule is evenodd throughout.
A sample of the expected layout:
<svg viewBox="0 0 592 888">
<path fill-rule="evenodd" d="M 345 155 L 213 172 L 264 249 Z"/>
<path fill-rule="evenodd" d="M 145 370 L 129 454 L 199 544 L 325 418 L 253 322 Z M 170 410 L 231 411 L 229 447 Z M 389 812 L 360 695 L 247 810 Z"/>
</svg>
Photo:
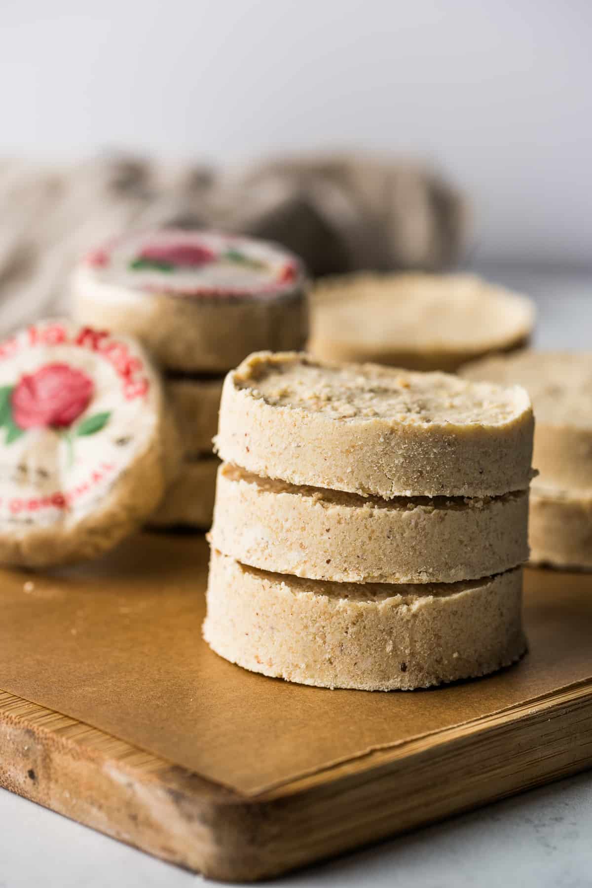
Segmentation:
<svg viewBox="0 0 592 888">
<path fill-rule="evenodd" d="M 141 535 L 79 571 L 0 572 L 0 785 L 249 881 L 592 764 L 592 576 L 526 572 L 517 667 L 365 694 L 211 654 L 206 562 L 201 538 Z"/>
</svg>

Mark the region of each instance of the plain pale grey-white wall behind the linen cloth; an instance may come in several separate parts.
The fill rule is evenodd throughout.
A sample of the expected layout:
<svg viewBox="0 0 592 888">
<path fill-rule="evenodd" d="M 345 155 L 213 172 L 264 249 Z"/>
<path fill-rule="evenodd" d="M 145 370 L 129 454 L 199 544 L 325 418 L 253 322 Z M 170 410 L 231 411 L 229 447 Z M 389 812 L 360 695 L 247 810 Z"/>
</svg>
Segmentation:
<svg viewBox="0 0 592 888">
<path fill-rule="evenodd" d="M 0 155 L 418 155 L 484 261 L 592 266 L 588 0 L 1 0 Z"/>
</svg>

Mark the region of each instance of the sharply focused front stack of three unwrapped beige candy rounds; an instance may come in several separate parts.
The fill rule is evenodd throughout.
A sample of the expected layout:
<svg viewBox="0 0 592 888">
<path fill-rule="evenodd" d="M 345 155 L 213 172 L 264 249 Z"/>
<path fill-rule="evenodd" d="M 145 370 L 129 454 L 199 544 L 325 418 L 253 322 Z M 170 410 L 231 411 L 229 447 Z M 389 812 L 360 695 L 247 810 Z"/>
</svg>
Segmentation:
<svg viewBox="0 0 592 888">
<path fill-rule="evenodd" d="M 524 389 L 258 353 L 225 380 L 204 637 L 242 667 L 364 690 L 525 651 Z"/>
</svg>

